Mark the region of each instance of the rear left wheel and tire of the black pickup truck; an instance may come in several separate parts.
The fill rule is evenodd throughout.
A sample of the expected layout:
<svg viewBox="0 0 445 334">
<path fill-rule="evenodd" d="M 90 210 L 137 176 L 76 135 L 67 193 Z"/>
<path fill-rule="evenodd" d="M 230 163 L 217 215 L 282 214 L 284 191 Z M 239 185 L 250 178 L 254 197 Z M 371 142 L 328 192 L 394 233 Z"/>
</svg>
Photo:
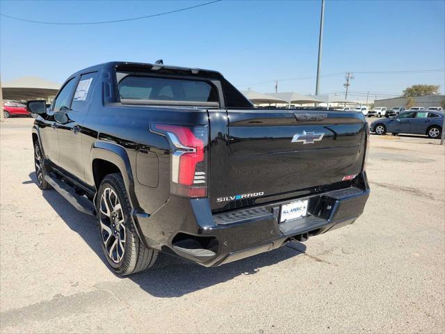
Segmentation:
<svg viewBox="0 0 445 334">
<path fill-rule="evenodd" d="M 120 173 L 106 175 L 102 180 L 97 192 L 96 212 L 102 251 L 108 266 L 115 273 L 125 276 L 152 267 L 158 252 L 146 248 L 138 237 Z"/>
</svg>

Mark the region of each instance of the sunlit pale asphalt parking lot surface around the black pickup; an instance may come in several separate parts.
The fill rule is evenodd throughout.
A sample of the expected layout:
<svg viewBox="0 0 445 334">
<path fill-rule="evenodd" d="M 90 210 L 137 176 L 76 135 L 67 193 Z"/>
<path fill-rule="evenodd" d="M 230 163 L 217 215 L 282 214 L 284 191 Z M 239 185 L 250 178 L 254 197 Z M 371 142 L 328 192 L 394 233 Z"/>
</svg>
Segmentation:
<svg viewBox="0 0 445 334">
<path fill-rule="evenodd" d="M 118 278 L 94 218 L 35 185 L 32 122 L 0 125 L 1 333 L 444 333 L 439 141 L 372 136 L 371 196 L 346 228 L 212 269 L 161 255 Z"/>
</svg>

